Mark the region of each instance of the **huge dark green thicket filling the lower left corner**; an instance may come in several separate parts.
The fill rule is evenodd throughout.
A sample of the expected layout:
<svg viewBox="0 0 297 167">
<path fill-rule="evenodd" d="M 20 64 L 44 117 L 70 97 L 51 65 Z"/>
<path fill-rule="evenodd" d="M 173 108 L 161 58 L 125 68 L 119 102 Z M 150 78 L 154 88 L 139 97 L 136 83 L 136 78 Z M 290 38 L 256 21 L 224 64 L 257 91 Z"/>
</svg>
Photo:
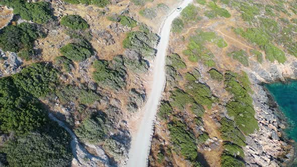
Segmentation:
<svg viewBox="0 0 297 167">
<path fill-rule="evenodd" d="M 12 135 L 0 153 L 9 166 L 70 165 L 70 136 L 49 120 L 37 99 L 53 92 L 56 81 L 56 71 L 45 64 L 0 79 L 0 130 Z"/>
</svg>

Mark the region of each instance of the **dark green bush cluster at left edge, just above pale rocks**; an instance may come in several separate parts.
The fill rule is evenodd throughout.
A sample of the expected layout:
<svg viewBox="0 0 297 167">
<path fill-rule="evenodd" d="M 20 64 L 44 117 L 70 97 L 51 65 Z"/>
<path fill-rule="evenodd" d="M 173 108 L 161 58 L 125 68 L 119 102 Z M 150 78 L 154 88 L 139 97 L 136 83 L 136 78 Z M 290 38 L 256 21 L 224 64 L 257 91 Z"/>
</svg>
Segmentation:
<svg viewBox="0 0 297 167">
<path fill-rule="evenodd" d="M 19 52 L 19 55 L 29 60 L 33 51 L 33 42 L 45 35 L 34 24 L 22 23 L 17 26 L 7 26 L 0 32 L 0 47 L 4 51 Z"/>
</svg>

